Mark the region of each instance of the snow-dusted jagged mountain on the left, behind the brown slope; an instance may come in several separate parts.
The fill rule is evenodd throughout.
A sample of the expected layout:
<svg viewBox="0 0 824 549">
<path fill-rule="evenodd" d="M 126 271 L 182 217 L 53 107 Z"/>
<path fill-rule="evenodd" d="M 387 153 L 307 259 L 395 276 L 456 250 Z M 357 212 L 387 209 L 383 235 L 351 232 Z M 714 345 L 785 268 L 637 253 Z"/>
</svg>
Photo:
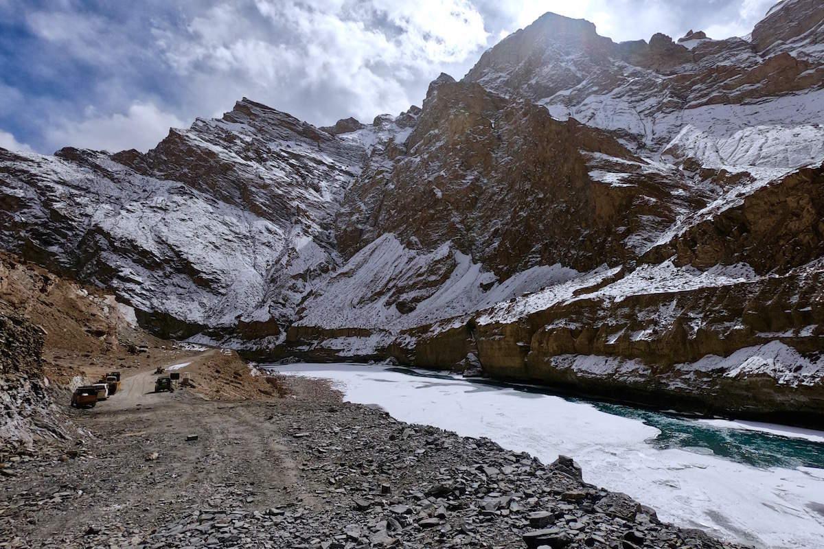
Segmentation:
<svg viewBox="0 0 824 549">
<path fill-rule="evenodd" d="M 276 327 L 335 265 L 335 212 L 364 155 L 249 100 L 146 155 L 0 151 L 0 241 L 110 286 L 162 332 Z"/>
</svg>

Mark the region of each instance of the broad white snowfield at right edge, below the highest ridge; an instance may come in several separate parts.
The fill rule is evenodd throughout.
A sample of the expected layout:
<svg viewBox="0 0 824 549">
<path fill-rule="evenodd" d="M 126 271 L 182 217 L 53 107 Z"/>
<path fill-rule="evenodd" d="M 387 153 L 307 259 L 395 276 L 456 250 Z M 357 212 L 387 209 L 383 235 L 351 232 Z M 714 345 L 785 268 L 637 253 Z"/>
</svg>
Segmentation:
<svg viewBox="0 0 824 549">
<path fill-rule="evenodd" d="M 639 100 L 632 82 L 606 94 L 592 93 L 578 105 L 565 105 L 563 94 L 538 103 L 555 119 L 637 134 L 648 151 L 667 162 L 689 157 L 709 166 L 790 170 L 824 156 L 824 127 L 816 122 L 824 120 L 824 90 L 667 110 L 654 96 Z"/>
</svg>

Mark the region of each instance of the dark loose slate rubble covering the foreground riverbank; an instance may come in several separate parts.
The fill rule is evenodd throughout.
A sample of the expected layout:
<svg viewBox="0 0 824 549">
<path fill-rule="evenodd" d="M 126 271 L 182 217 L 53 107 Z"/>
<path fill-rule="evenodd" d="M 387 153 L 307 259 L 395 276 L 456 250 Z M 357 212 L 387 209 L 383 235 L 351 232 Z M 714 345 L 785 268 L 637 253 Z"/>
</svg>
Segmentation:
<svg viewBox="0 0 824 549">
<path fill-rule="evenodd" d="M 18 492 L 0 504 L 0 539 L 7 540 L 0 547 L 737 547 L 661 523 L 653 509 L 629 496 L 583 482 L 571 458 L 545 465 L 491 440 L 410 426 L 381 410 L 328 397 L 241 403 L 226 412 L 208 406 L 196 415 L 257 414 L 260 426 L 272 430 L 271 440 L 263 430 L 261 439 L 269 447 L 282 444 L 280 465 L 293 467 L 291 482 L 279 488 L 283 494 L 272 495 L 277 486 L 260 486 L 271 482 L 265 470 L 276 463 L 251 462 L 241 444 L 224 441 L 219 462 L 217 454 L 204 459 L 212 468 L 231 468 L 236 482 L 201 485 L 197 477 L 210 476 L 198 468 L 190 482 L 174 485 L 178 493 L 151 500 L 152 479 L 160 482 L 151 468 L 169 467 L 162 453 L 140 480 L 129 477 L 145 483 L 146 500 L 115 505 L 121 509 L 106 514 L 105 523 L 64 519 L 60 536 L 32 542 L 15 530 L 38 520 L 44 509 L 71 514 L 82 497 L 54 465 L 46 482 L 52 491 Z M 192 448 L 207 439 L 180 444 Z M 93 461 L 94 453 L 86 447 L 78 461 Z M 88 486 L 93 505 L 108 505 L 110 493 L 119 490 L 113 478 L 110 486 Z M 151 522 L 140 513 L 158 505 L 166 512 L 153 514 Z"/>
</svg>

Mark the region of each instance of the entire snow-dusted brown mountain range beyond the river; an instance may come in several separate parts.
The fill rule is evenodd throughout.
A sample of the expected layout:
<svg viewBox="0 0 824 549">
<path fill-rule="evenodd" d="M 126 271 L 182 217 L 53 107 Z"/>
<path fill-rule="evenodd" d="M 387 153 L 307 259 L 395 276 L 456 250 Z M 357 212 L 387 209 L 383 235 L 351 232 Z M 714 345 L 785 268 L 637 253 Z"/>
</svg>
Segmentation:
<svg viewBox="0 0 824 549">
<path fill-rule="evenodd" d="M 813 421 L 822 19 L 615 44 L 546 14 L 370 124 L 242 100 L 146 154 L 0 151 L 0 244 L 267 358 Z"/>
</svg>

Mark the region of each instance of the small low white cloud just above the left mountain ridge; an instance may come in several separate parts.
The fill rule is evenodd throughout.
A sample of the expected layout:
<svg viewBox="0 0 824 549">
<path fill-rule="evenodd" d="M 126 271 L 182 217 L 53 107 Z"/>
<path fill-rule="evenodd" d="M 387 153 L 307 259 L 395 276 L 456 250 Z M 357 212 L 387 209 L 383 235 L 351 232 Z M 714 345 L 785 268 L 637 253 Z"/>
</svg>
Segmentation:
<svg viewBox="0 0 824 549">
<path fill-rule="evenodd" d="M 56 128 L 47 131 L 46 137 L 54 148 L 147 151 L 166 137 L 169 128 L 184 125 L 174 114 L 163 112 L 152 103 L 134 103 L 125 114 L 96 116 L 94 109 L 88 109 L 86 119 L 61 120 Z"/>
</svg>

